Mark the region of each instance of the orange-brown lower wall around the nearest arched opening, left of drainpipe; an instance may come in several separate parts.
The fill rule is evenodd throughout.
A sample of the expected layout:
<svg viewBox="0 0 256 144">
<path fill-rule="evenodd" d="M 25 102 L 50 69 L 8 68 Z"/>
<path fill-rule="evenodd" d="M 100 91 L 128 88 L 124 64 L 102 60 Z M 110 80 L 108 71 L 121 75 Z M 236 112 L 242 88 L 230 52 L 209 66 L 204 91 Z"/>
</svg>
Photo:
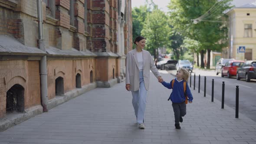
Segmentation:
<svg viewBox="0 0 256 144">
<path fill-rule="evenodd" d="M 15 84 L 25 89 L 25 109 L 40 105 L 39 61 L 0 61 L 0 118 L 6 113 L 6 93 Z"/>
</svg>

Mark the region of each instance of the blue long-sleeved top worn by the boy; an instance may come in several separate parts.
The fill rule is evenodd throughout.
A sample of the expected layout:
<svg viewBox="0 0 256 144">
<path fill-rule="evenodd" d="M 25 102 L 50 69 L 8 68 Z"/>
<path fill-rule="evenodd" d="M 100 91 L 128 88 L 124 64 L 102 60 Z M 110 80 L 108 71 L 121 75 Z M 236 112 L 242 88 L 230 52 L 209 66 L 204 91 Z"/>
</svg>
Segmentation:
<svg viewBox="0 0 256 144">
<path fill-rule="evenodd" d="M 173 103 L 181 103 L 181 102 L 185 101 L 183 82 L 184 82 L 184 80 L 181 82 L 178 82 L 177 79 L 175 79 L 173 88 L 171 87 L 171 82 L 170 83 L 162 82 L 162 85 L 164 85 L 166 88 L 172 89 L 170 99 Z M 186 84 L 187 84 L 187 82 L 186 82 Z M 188 87 L 188 84 L 186 87 L 187 87 L 188 101 L 192 101 L 193 96 Z"/>
</svg>

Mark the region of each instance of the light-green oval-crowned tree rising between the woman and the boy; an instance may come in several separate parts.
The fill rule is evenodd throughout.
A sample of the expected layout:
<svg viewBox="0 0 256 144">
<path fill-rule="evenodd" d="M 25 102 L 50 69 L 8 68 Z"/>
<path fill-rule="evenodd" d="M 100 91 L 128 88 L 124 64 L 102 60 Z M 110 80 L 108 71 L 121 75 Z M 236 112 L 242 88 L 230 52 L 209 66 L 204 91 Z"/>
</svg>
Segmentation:
<svg viewBox="0 0 256 144">
<path fill-rule="evenodd" d="M 170 28 L 167 25 L 167 17 L 164 12 L 154 8 L 148 13 L 141 31 L 147 41 L 146 49 L 154 54 L 154 59 L 158 58 L 158 48 L 165 46 L 167 43 L 167 33 Z"/>
</svg>

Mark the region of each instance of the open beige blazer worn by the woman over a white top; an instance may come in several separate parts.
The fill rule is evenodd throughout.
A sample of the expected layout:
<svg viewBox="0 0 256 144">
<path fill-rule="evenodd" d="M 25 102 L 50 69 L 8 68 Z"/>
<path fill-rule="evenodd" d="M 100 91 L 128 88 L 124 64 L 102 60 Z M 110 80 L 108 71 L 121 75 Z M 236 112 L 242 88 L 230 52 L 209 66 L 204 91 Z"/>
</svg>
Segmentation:
<svg viewBox="0 0 256 144">
<path fill-rule="evenodd" d="M 149 73 L 153 72 L 156 78 L 161 76 L 158 72 L 158 69 L 154 65 L 154 61 L 151 57 L 151 54 L 142 49 L 142 57 L 143 57 L 143 78 L 146 90 L 149 87 Z M 139 78 L 139 69 L 138 69 L 138 60 L 136 56 L 136 49 L 128 52 L 126 56 L 126 72 L 125 72 L 125 83 L 130 84 L 131 91 L 138 91 L 140 85 Z"/>
</svg>

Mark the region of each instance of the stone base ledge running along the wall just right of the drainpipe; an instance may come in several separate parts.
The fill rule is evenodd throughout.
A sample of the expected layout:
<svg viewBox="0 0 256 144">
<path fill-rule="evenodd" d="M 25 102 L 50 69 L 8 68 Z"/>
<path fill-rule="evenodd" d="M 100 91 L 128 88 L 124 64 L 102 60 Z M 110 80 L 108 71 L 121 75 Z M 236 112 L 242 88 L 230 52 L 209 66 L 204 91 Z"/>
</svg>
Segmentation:
<svg viewBox="0 0 256 144">
<path fill-rule="evenodd" d="M 72 98 L 75 98 L 79 95 L 82 95 L 85 92 L 88 92 L 92 89 L 96 88 L 96 83 L 90 83 L 88 85 L 82 86 L 82 88 L 75 88 L 69 92 L 66 92 L 63 96 L 57 96 L 51 100 L 48 101 L 48 110 L 52 109 L 58 105 L 61 105 L 62 103 L 69 101 Z"/>
</svg>

